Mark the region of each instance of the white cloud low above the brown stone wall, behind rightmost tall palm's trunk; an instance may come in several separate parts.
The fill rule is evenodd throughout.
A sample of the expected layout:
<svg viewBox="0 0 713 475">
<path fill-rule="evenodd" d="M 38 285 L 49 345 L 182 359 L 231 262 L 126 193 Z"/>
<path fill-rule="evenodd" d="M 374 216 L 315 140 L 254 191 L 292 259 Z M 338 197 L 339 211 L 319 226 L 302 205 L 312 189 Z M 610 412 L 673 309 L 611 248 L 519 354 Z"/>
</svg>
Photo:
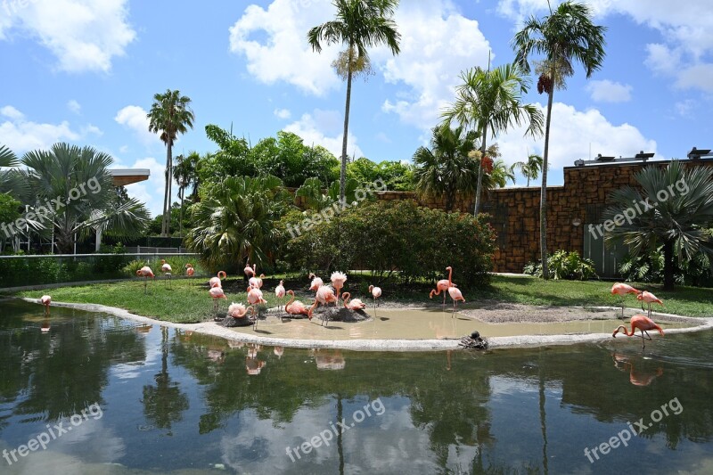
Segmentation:
<svg viewBox="0 0 713 475">
<path fill-rule="evenodd" d="M 545 106 L 541 104 L 537 106 L 545 113 Z M 496 139 L 506 163 L 512 164 L 524 160 L 528 151 L 542 154 L 544 138 L 526 139 L 522 136 L 523 133 L 524 127 L 518 127 Z M 641 150 L 656 152 L 657 148 L 656 141 L 645 138 L 630 124 L 615 125 L 596 109 L 577 111 L 574 107 L 561 102 L 553 104 L 550 134 L 551 168 L 570 167 L 574 164 L 574 160 L 587 160 L 590 145 L 593 155 L 602 153 L 625 157 L 633 156 Z"/>
</svg>

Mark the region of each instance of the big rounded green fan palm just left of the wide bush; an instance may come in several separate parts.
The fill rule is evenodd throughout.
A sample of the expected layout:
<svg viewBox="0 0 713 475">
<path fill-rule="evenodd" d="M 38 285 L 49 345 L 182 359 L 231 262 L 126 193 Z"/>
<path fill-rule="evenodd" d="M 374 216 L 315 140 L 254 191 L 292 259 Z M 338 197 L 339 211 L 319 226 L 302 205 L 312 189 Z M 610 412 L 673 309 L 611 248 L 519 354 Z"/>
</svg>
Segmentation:
<svg viewBox="0 0 713 475">
<path fill-rule="evenodd" d="M 228 176 L 206 187 L 191 209 L 195 227 L 185 237 L 188 249 L 212 270 L 266 264 L 277 242 L 275 221 L 291 201 L 283 182 L 275 176 Z"/>
</svg>

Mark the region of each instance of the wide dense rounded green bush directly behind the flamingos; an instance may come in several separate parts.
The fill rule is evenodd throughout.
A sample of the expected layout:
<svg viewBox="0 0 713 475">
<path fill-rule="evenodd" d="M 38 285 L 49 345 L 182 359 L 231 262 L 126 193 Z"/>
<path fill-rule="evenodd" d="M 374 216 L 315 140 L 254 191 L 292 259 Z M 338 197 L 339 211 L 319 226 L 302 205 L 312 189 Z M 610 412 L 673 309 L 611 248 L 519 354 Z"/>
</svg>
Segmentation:
<svg viewBox="0 0 713 475">
<path fill-rule="evenodd" d="M 306 218 L 314 225 L 301 225 Z M 296 225 L 301 234 L 293 237 Z M 431 281 L 453 266 L 462 286 L 488 283 L 495 250 L 485 218 L 420 208 L 414 201 L 364 203 L 326 221 L 317 213 L 291 212 L 277 228 L 291 270 L 369 269 L 380 281 Z"/>
</svg>

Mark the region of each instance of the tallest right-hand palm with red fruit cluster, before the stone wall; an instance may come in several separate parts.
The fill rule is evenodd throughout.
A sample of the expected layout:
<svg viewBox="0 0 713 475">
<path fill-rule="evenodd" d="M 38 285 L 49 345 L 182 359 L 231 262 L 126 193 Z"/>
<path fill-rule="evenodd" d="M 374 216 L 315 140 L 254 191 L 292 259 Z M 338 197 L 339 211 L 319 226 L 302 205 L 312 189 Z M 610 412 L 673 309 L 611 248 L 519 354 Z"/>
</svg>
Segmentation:
<svg viewBox="0 0 713 475">
<path fill-rule="evenodd" d="M 604 60 L 605 27 L 592 23 L 592 11 L 586 4 L 571 1 L 560 4 L 543 20 L 532 17 L 512 40 L 516 52 L 515 61 L 529 72 L 529 57 L 533 53 L 545 56 L 539 63 L 541 71 L 537 81 L 540 94 L 547 93 L 547 119 L 545 125 L 545 152 L 542 167 L 542 196 L 540 198 L 540 258 L 542 274 L 549 278 L 547 270 L 547 164 L 550 152 L 550 124 L 555 88 L 565 86 L 565 78 L 574 74 L 574 62 L 582 64 L 586 78 L 602 67 Z"/>
</svg>

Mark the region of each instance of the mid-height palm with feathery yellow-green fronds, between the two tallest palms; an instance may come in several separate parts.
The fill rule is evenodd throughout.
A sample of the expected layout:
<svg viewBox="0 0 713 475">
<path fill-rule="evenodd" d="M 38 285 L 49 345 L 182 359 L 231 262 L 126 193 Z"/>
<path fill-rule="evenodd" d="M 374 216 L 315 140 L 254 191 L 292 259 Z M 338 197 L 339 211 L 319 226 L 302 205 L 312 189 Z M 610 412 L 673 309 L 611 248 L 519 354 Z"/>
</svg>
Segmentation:
<svg viewBox="0 0 713 475">
<path fill-rule="evenodd" d="M 480 153 L 486 155 L 488 134 L 496 137 L 513 125 L 528 122 L 525 135 L 542 133 L 542 112 L 532 104 L 523 105 L 529 81 L 516 64 L 505 64 L 495 70 L 473 68 L 461 74 L 463 84 L 456 87 L 455 102 L 444 112 L 447 121 L 457 120 L 473 127 L 480 135 Z M 480 209 L 483 167 L 478 167 L 474 215 Z"/>
</svg>

